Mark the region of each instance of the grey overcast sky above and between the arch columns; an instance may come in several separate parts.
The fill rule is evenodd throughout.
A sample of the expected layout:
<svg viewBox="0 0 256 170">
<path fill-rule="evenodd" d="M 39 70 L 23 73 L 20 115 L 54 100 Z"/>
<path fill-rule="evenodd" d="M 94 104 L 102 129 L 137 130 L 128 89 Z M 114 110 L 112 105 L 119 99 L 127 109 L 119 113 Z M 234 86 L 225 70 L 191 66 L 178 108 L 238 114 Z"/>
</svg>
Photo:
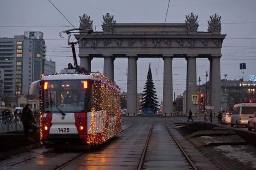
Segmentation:
<svg viewBox="0 0 256 170">
<path fill-rule="evenodd" d="M 60 11 L 75 26 L 79 25 L 79 15 L 89 14 L 94 28 L 101 31 L 102 15 L 109 12 L 117 23 L 164 23 L 168 0 L 52 0 Z M 185 23 L 185 15 L 193 12 L 199 21 L 198 31 L 207 31 L 209 15 L 217 13 L 222 16 L 222 34 L 226 38 L 256 38 L 256 0 L 171 0 L 166 23 Z M 42 31 L 47 45 L 47 58 L 56 61 L 56 70 L 60 71 L 69 62 L 73 63 L 71 49 L 65 40 L 58 35 L 60 31 L 72 27 L 48 0 L 0 0 L 0 37 L 13 37 L 24 34 L 24 31 Z M 10 27 L 5 27 L 10 26 Z M 15 27 L 16 26 L 16 27 Z M 37 26 L 37 27 L 36 27 Z M 54 27 L 53 27 L 54 26 Z M 221 57 L 221 78 L 242 78 L 239 63 L 246 63 L 244 79 L 256 74 L 256 39 L 227 39 L 223 42 Z M 230 47 L 232 46 L 232 47 Z M 234 47 L 235 46 L 235 47 Z M 80 60 L 79 60 L 80 62 Z M 152 75 L 159 101 L 163 96 L 163 60 L 138 59 L 137 78 L 138 92 L 142 92 L 147 78 L 148 64 L 151 62 Z M 126 72 L 127 59 L 116 59 L 116 67 Z M 158 66 L 159 65 L 159 66 Z M 159 68 L 158 76 L 156 68 Z M 205 83 L 205 73 L 209 71 L 207 59 L 197 59 L 197 77 Z M 103 72 L 103 59 L 92 60 L 92 71 Z M 117 68 L 114 70 L 116 83 L 126 91 L 127 77 Z M 197 78 L 197 79 L 198 79 Z M 173 59 L 173 91 L 182 94 L 186 88 L 186 61 Z"/>
</svg>

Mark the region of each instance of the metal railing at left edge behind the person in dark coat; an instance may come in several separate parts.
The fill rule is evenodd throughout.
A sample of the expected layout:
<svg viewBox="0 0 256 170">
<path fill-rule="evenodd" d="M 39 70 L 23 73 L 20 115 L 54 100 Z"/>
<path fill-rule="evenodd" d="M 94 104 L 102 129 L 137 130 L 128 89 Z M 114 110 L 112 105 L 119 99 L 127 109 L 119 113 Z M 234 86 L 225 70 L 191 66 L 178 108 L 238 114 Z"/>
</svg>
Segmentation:
<svg viewBox="0 0 256 170">
<path fill-rule="evenodd" d="M 36 119 L 36 126 L 40 126 L 39 115 L 34 115 Z M 15 132 L 23 130 L 23 124 L 21 122 L 21 115 L 13 116 L 0 116 L 0 133 Z"/>
</svg>

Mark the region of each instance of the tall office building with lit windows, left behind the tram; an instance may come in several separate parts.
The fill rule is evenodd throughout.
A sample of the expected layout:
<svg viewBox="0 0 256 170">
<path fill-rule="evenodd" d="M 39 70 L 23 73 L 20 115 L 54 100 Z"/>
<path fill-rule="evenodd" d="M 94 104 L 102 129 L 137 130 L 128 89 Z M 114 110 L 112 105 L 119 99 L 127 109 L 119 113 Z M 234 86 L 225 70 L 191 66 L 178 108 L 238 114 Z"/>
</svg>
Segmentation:
<svg viewBox="0 0 256 170">
<path fill-rule="evenodd" d="M 46 60 L 46 45 L 39 31 L 0 38 L 1 95 L 27 95 L 41 74 L 55 73 L 55 62 Z"/>
</svg>

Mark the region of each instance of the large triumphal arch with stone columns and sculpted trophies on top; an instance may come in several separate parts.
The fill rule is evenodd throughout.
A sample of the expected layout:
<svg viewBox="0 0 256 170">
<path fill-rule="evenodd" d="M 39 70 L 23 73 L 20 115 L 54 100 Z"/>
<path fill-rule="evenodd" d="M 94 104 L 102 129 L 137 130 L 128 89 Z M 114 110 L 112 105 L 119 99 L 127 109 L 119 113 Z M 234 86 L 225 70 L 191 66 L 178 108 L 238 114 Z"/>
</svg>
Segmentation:
<svg viewBox="0 0 256 170">
<path fill-rule="evenodd" d="M 173 112 L 173 73 L 172 59 L 187 60 L 186 112 L 197 112 L 197 105 L 192 102 L 192 95 L 197 92 L 197 58 L 210 61 L 209 104 L 214 106 L 213 113 L 218 113 L 221 104 L 220 57 L 221 47 L 226 35 L 221 31 L 221 17 L 210 16 L 207 31 L 197 31 L 198 16 L 189 14 L 185 23 L 166 24 L 131 24 L 116 23 L 114 16 L 103 16 L 102 30 L 87 34 L 79 42 L 81 66 L 91 70 L 91 60 L 104 58 L 104 75 L 114 80 L 114 59 L 128 58 L 127 74 L 127 112 L 137 115 L 137 59 L 162 58 L 164 60 L 163 113 Z M 80 28 L 92 29 L 90 16 L 80 17 Z M 81 38 L 87 31 L 80 30 L 75 35 Z"/>
</svg>

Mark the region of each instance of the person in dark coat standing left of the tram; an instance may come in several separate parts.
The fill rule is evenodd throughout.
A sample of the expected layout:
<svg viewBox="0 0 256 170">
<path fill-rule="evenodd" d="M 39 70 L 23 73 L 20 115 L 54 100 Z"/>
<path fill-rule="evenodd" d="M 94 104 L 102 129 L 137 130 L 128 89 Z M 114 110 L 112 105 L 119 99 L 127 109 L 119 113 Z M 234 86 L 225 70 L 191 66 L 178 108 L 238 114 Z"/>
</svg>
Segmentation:
<svg viewBox="0 0 256 170">
<path fill-rule="evenodd" d="M 22 121 L 23 126 L 24 126 L 24 133 L 25 133 L 26 139 L 34 141 L 34 139 L 28 137 L 29 129 L 33 129 L 33 132 L 32 132 L 31 136 L 33 136 L 36 133 L 36 130 L 37 130 L 37 127 L 33 124 L 35 122 L 35 120 L 33 118 L 33 114 L 32 114 L 32 111 L 30 109 L 29 104 L 26 104 L 25 107 L 22 109 L 21 121 Z"/>
</svg>

